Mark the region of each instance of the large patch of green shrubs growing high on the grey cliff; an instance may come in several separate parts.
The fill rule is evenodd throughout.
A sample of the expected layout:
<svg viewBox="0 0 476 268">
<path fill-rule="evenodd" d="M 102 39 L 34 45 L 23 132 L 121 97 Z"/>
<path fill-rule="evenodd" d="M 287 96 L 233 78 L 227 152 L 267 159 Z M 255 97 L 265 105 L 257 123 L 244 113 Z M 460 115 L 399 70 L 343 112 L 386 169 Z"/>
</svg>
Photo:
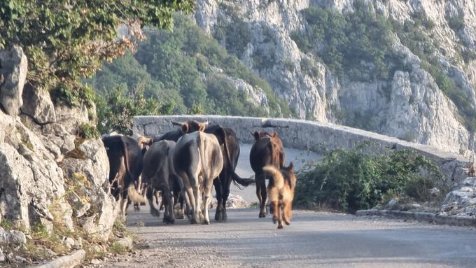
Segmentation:
<svg viewBox="0 0 476 268">
<path fill-rule="evenodd" d="M 346 72 L 354 80 L 388 78 L 395 59 L 392 27 L 385 17 L 360 1 L 354 2 L 353 13 L 345 15 L 323 8 L 307 8 L 303 15 L 307 32 L 291 34 L 301 50 L 321 57 L 339 76 Z"/>
</svg>

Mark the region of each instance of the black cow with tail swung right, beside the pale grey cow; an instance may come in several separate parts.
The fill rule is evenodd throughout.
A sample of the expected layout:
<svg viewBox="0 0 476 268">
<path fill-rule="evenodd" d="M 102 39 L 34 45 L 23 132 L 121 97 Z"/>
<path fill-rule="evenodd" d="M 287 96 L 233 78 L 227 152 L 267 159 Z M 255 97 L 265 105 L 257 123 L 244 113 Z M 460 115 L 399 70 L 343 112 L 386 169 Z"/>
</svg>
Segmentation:
<svg viewBox="0 0 476 268">
<path fill-rule="evenodd" d="M 219 175 L 218 180 L 214 180 L 217 207 L 215 213 L 215 220 L 223 222 L 227 220 L 226 202 L 230 195 L 230 185 L 233 181 L 235 185 L 248 186 L 255 181 L 249 178 L 241 178 L 235 173 L 239 157 L 239 142 L 237 134 L 228 127 L 221 125 L 209 125 L 205 129 L 206 133 L 214 134 L 218 143 L 220 143 L 223 154 L 223 169 Z"/>
</svg>

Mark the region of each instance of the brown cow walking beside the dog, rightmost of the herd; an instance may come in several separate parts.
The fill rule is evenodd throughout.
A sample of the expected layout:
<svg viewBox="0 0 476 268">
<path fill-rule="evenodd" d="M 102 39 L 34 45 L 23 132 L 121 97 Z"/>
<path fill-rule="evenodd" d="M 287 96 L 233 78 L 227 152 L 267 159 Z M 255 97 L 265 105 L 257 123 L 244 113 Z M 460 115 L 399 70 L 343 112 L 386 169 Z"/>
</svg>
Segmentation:
<svg viewBox="0 0 476 268">
<path fill-rule="evenodd" d="M 272 165 L 276 169 L 280 169 L 284 164 L 284 148 L 283 142 L 279 139 L 278 134 L 273 132 L 255 132 L 255 143 L 251 147 L 250 164 L 251 169 L 255 171 L 256 195 L 260 202 L 260 218 L 266 217 L 266 179 L 267 174 L 262 168 Z"/>
</svg>

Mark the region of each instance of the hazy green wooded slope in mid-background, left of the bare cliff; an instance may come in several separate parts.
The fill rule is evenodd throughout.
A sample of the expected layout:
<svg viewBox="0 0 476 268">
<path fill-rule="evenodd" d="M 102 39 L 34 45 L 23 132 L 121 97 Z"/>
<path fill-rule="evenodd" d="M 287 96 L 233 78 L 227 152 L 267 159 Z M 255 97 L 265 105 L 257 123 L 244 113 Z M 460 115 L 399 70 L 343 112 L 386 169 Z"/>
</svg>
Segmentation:
<svg viewBox="0 0 476 268">
<path fill-rule="evenodd" d="M 145 99 L 174 104 L 173 113 L 267 115 L 262 107 L 247 100 L 245 92 L 237 90 L 226 78 L 230 76 L 265 91 L 269 116 L 291 115 L 288 106 L 277 99 L 265 80 L 237 57 L 229 55 L 189 17 L 176 14 L 173 33 L 147 29 L 146 34 L 148 39 L 139 44 L 135 55 L 127 52 L 125 57 L 104 64 L 87 83 L 102 96 L 111 87 L 127 88 L 127 94 L 141 87 Z M 223 70 L 223 74 L 216 70 Z"/>
</svg>

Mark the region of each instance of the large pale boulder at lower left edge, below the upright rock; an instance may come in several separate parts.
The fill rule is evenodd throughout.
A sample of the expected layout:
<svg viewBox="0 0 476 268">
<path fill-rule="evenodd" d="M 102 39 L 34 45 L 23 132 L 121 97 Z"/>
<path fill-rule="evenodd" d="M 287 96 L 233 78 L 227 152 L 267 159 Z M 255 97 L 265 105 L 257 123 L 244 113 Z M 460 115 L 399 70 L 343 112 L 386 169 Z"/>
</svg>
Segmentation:
<svg viewBox="0 0 476 268">
<path fill-rule="evenodd" d="M 73 230 L 71 208 L 64 201 L 63 171 L 33 132 L 17 122 L 0 143 L 0 218 L 26 230 L 41 223 L 52 230 Z"/>
</svg>

